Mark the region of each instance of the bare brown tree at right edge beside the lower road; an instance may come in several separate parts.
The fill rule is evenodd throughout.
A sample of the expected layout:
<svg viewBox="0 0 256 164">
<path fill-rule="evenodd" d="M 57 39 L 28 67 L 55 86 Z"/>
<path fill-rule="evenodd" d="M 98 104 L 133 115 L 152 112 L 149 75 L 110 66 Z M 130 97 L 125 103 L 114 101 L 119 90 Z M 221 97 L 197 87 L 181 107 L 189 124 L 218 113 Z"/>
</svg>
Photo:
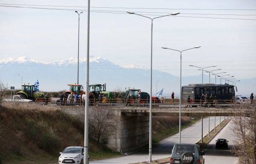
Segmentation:
<svg viewBox="0 0 256 164">
<path fill-rule="evenodd" d="M 232 120 L 235 124 L 232 129 L 235 136 L 232 152 L 242 157 L 241 163 L 256 164 L 256 107 L 244 107 Z"/>
</svg>

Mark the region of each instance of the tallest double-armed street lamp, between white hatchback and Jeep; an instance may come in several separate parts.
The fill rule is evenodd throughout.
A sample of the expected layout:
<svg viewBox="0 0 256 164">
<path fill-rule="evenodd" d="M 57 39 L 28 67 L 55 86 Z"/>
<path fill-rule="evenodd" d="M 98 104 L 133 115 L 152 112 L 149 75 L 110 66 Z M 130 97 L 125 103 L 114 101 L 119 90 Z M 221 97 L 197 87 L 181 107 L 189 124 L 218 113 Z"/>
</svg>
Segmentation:
<svg viewBox="0 0 256 164">
<path fill-rule="evenodd" d="M 170 16 L 170 15 L 177 15 L 180 14 L 179 12 L 175 12 L 172 14 L 168 14 L 168 15 L 163 15 L 160 17 L 146 17 L 144 15 L 141 14 L 136 14 L 134 12 L 128 12 L 129 14 L 135 14 L 135 15 L 139 15 L 141 17 L 145 17 L 151 20 L 151 57 L 150 57 L 150 97 L 149 97 L 149 162 L 152 162 L 152 38 L 153 38 L 153 20 L 160 18 L 160 17 L 166 17 L 166 16 Z"/>
</svg>

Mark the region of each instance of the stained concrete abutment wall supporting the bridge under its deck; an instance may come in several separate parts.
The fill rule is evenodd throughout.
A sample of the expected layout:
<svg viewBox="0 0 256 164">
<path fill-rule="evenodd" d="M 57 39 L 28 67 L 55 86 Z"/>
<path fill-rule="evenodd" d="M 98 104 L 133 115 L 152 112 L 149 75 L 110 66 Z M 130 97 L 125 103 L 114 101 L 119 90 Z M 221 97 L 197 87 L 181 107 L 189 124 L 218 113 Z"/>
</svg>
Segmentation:
<svg viewBox="0 0 256 164">
<path fill-rule="evenodd" d="M 148 144 L 149 117 L 125 116 L 115 110 L 115 130 L 108 139 L 108 147 L 117 152 L 128 152 Z"/>
</svg>

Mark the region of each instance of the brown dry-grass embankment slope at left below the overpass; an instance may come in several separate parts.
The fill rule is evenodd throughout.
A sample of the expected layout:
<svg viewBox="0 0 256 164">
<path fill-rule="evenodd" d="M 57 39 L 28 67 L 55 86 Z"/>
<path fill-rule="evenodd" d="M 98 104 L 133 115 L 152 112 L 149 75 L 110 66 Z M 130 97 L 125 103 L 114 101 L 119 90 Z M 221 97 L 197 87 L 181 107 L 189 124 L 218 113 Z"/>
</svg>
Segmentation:
<svg viewBox="0 0 256 164">
<path fill-rule="evenodd" d="M 84 123 L 57 107 L 3 103 L 0 145 L 3 164 L 56 164 L 65 147 L 84 145 Z M 90 139 L 90 159 L 99 155 L 107 158 L 120 154 Z"/>
</svg>

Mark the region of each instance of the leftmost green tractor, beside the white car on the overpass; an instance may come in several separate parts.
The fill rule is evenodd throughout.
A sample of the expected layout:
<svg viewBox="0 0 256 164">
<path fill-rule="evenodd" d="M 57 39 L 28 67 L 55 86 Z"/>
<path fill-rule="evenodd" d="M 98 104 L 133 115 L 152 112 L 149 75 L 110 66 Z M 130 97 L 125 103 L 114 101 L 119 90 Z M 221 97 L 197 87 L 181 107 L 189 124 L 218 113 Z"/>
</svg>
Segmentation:
<svg viewBox="0 0 256 164">
<path fill-rule="evenodd" d="M 22 85 L 21 91 L 17 92 L 16 95 L 20 95 L 24 99 L 29 99 L 33 101 L 45 98 L 45 94 L 43 92 L 34 91 L 34 86 L 35 85 Z"/>
</svg>

